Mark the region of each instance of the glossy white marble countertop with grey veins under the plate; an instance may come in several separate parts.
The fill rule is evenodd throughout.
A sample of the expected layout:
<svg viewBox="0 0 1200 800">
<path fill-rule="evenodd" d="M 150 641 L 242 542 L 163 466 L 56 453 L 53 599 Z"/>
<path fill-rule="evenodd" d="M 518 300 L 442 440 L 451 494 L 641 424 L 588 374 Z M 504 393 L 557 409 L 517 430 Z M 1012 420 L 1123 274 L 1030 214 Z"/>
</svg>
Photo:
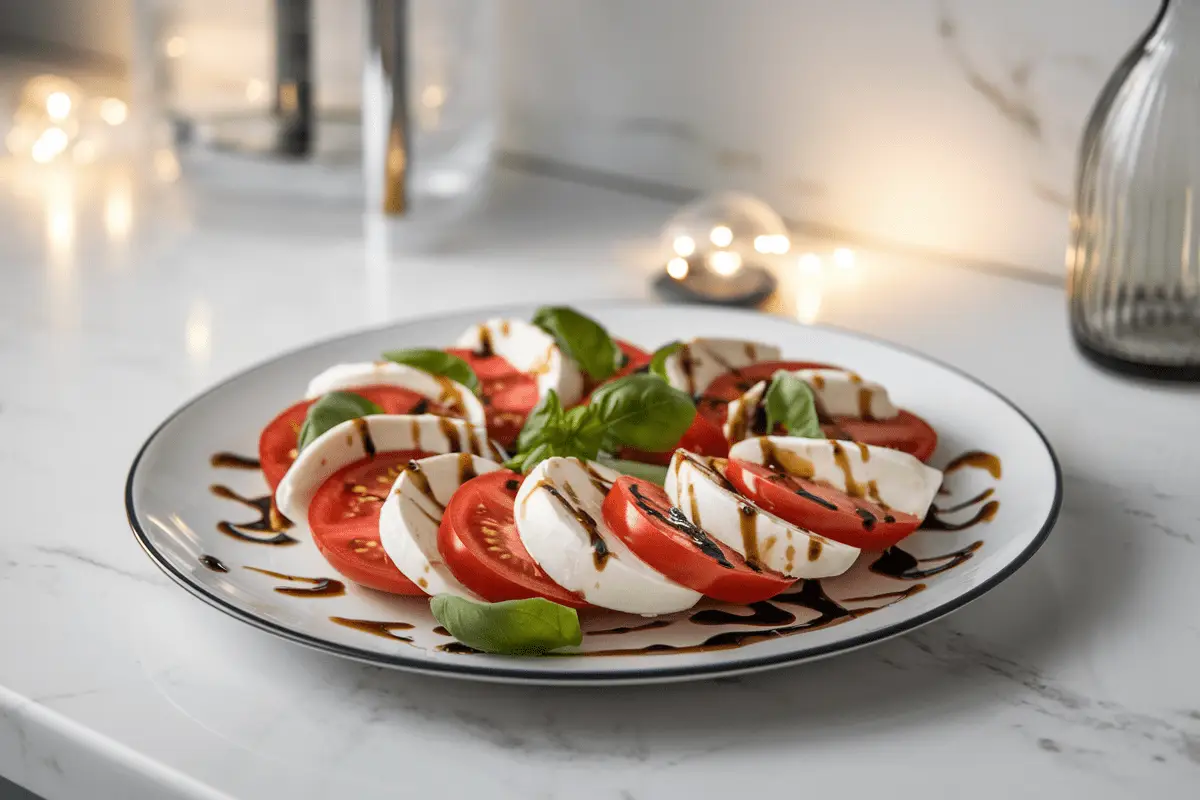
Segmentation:
<svg viewBox="0 0 1200 800">
<path fill-rule="evenodd" d="M 472 235 L 424 254 L 353 209 L 0 180 L 0 774 L 49 800 L 1194 792 L 1200 393 L 1087 366 L 1044 282 L 859 252 L 774 306 L 970 371 L 1061 457 L 1046 546 L 899 639 L 702 684 L 492 686 L 308 651 L 160 573 L 126 470 L 204 387 L 364 325 L 648 296 L 668 205 L 500 178 Z"/>
</svg>

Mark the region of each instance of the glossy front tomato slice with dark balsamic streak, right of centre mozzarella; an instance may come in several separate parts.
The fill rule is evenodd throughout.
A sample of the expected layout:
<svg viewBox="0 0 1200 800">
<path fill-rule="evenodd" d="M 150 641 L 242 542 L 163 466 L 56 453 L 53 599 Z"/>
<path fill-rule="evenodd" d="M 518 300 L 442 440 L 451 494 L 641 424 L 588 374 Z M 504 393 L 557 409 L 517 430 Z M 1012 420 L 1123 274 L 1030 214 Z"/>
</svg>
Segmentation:
<svg viewBox="0 0 1200 800">
<path fill-rule="evenodd" d="M 774 597 L 796 581 L 755 570 L 736 551 L 688 522 L 666 492 L 623 476 L 604 501 L 604 519 L 637 558 L 689 589 L 731 603 Z"/>
</svg>

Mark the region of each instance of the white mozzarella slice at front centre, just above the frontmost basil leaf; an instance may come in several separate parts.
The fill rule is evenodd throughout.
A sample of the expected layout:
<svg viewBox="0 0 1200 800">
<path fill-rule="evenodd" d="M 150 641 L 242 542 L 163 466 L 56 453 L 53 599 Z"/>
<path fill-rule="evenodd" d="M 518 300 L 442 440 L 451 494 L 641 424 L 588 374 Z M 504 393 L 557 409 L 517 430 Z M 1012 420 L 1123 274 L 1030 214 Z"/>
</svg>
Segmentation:
<svg viewBox="0 0 1200 800">
<path fill-rule="evenodd" d="M 700 593 L 659 575 L 605 524 L 601 506 L 617 477 L 577 458 L 538 464 L 516 498 L 522 543 L 554 583 L 594 606 L 648 615 L 691 608 Z"/>
</svg>

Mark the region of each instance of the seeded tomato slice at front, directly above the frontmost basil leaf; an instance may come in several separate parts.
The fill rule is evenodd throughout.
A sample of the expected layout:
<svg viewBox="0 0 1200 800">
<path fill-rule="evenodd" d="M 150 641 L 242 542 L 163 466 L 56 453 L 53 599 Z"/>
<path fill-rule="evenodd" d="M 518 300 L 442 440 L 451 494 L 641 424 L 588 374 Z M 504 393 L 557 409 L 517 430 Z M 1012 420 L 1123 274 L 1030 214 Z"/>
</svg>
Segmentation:
<svg viewBox="0 0 1200 800">
<path fill-rule="evenodd" d="M 463 585 L 490 602 L 545 597 L 571 608 L 587 601 L 551 581 L 533 560 L 512 515 L 521 476 L 506 469 L 473 477 L 454 493 L 438 528 L 438 552 Z"/>
</svg>

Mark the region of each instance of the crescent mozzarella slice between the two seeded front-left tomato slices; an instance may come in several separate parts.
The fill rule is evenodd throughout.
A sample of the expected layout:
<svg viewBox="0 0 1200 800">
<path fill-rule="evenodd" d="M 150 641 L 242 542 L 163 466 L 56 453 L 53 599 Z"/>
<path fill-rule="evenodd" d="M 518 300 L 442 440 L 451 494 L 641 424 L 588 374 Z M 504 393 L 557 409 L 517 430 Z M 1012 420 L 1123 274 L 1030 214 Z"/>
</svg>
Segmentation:
<svg viewBox="0 0 1200 800">
<path fill-rule="evenodd" d="M 458 582 L 438 553 L 438 525 L 460 486 L 500 469 L 472 453 L 444 453 L 414 461 L 400 474 L 379 510 L 383 549 L 404 577 L 430 595 L 451 594 L 478 600 Z"/>
</svg>

